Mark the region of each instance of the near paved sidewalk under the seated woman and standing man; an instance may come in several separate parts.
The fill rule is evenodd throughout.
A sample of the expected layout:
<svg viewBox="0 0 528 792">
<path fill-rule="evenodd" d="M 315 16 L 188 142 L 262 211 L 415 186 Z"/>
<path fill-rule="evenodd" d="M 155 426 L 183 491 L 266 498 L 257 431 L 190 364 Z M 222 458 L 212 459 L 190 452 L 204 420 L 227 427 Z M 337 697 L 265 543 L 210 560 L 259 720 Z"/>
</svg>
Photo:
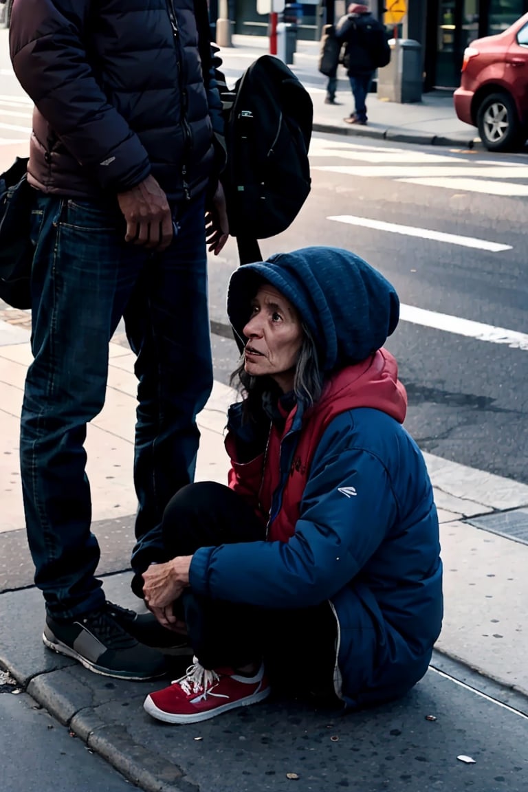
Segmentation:
<svg viewBox="0 0 528 792">
<path fill-rule="evenodd" d="M 0 321 L 0 539 L 23 539 L 18 418 L 30 357 L 28 329 Z M 125 346 L 112 342 L 107 402 L 88 432 L 94 520 L 106 519 L 110 530 L 135 512 L 133 362 Z M 232 398 L 230 388 L 215 383 L 199 416 L 199 479 L 226 480 L 222 433 Z M 159 685 L 108 680 L 44 648 L 36 588 L 0 595 L 0 663 L 89 748 L 149 792 L 278 792 L 291 772 L 302 792 L 343 786 L 462 792 L 467 783 L 479 792 L 526 792 L 528 545 L 507 538 L 507 527 L 493 520 L 517 515 L 526 522 L 528 486 L 426 459 L 441 520 L 446 615 L 430 671 L 401 701 L 336 718 L 269 700 L 188 728 L 161 725 L 142 710 Z M 486 520 L 503 535 L 482 530 Z M 113 574 L 104 588 L 110 600 L 137 609 L 129 581 L 130 573 Z M 427 714 L 437 720 L 427 721 Z M 461 754 L 476 764 L 462 764 Z"/>
</svg>

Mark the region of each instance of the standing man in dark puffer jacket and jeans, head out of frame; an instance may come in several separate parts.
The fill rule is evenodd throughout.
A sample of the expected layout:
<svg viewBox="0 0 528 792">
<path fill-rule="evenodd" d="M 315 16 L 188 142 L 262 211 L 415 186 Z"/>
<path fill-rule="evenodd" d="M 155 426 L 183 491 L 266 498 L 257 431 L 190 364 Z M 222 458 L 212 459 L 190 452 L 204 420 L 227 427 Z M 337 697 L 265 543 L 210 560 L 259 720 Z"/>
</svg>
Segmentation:
<svg viewBox="0 0 528 792">
<path fill-rule="evenodd" d="M 139 380 L 138 540 L 192 481 L 212 385 L 206 222 L 215 253 L 228 231 L 218 91 L 193 0 L 14 0 L 9 41 L 35 103 L 21 476 L 43 639 L 94 672 L 150 679 L 164 663 L 136 640 L 146 617 L 108 604 L 95 577 L 83 444 L 123 317 Z"/>
</svg>

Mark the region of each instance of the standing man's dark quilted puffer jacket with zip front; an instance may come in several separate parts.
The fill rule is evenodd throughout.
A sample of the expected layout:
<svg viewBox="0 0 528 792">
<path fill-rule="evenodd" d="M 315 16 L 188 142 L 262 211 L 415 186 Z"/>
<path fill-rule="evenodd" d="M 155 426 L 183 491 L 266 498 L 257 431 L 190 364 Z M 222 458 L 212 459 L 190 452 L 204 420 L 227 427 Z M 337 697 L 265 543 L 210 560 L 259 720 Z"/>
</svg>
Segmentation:
<svg viewBox="0 0 528 792">
<path fill-rule="evenodd" d="M 152 173 L 173 200 L 207 185 L 221 105 L 192 0 L 15 0 L 9 41 L 36 105 L 32 185 L 91 197 Z"/>
</svg>

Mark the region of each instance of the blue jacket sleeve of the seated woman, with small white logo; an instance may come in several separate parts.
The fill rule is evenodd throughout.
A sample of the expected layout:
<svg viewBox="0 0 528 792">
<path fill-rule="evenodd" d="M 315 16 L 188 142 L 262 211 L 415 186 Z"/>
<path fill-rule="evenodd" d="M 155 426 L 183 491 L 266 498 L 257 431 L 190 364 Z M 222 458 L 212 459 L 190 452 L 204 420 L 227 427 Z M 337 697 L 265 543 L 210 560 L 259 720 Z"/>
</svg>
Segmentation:
<svg viewBox="0 0 528 792">
<path fill-rule="evenodd" d="M 396 515 L 385 466 L 349 447 L 344 432 L 313 460 L 290 541 L 202 548 L 192 559 L 192 588 L 260 607 L 319 604 L 360 572 Z"/>
</svg>

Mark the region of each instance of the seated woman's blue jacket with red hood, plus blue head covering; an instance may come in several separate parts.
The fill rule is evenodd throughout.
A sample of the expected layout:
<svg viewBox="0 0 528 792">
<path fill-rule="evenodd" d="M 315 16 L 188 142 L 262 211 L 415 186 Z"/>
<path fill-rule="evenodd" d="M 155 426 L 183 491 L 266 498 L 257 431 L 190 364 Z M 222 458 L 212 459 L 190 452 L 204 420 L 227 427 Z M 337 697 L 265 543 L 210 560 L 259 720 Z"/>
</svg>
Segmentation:
<svg viewBox="0 0 528 792">
<path fill-rule="evenodd" d="M 267 476 L 278 482 L 269 536 L 275 521 L 283 535 L 288 515 L 294 524 L 287 541 L 197 550 L 190 583 L 203 595 L 265 608 L 329 600 L 339 634 L 336 691 L 349 707 L 392 699 L 424 676 L 443 617 L 431 482 L 401 425 L 405 390 L 396 364 L 387 353 L 385 363 L 381 352 L 373 355 L 397 325 L 397 295 L 347 251 L 284 253 L 232 276 L 228 311 L 237 332 L 262 279 L 298 309 L 327 372 L 321 399 L 310 409 L 298 403 L 280 447 L 269 441 L 273 459 L 263 454 L 235 470 L 248 482 L 250 468 L 264 471 L 261 489 L 258 482 L 246 488 L 249 500 L 251 489 L 263 493 Z"/>
</svg>

